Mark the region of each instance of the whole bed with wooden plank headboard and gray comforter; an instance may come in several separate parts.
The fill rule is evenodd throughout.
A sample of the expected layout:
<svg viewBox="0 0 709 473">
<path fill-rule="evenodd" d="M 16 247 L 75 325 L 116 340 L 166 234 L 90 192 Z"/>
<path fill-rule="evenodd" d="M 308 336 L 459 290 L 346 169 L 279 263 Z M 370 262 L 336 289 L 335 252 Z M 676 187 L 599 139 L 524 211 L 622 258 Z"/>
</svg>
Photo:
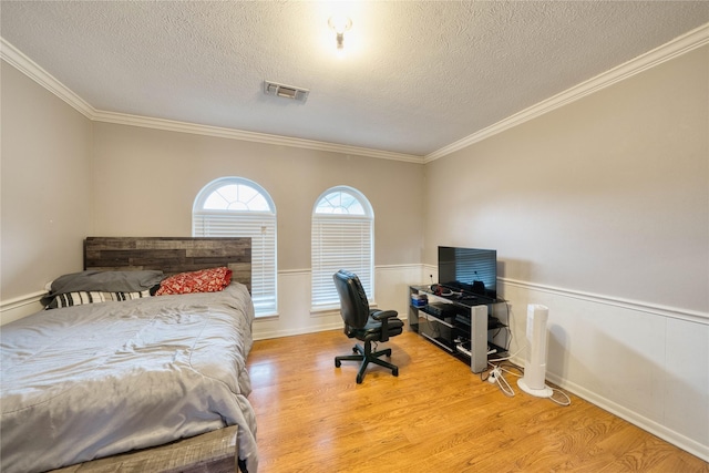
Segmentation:
<svg viewBox="0 0 709 473">
<path fill-rule="evenodd" d="M 91 304 L 74 291 L 2 327 L 0 469 L 256 472 L 250 240 L 86 238 L 84 269 L 55 286 L 93 271 L 160 284 Z M 152 295 L 217 273 L 222 290 Z"/>
</svg>

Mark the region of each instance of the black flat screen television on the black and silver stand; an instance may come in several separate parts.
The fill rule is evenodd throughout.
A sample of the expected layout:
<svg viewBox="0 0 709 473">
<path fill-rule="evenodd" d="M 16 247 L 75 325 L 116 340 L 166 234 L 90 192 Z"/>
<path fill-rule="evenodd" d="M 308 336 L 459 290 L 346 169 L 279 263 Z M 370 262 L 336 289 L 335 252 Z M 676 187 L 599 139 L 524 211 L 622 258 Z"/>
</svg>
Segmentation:
<svg viewBox="0 0 709 473">
<path fill-rule="evenodd" d="M 497 250 L 439 246 L 439 284 L 497 298 Z"/>
</svg>

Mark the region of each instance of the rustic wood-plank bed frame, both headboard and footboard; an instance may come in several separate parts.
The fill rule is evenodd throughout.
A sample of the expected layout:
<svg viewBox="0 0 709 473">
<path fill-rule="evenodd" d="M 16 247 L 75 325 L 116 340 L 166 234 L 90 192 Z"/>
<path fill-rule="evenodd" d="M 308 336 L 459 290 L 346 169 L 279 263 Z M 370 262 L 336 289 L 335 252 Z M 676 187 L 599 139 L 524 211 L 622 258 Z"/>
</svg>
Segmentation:
<svg viewBox="0 0 709 473">
<path fill-rule="evenodd" d="M 251 289 L 250 238 L 88 237 L 84 269 L 161 269 L 166 275 L 227 266 L 232 279 Z M 238 471 L 235 425 L 166 445 L 53 470 L 54 473 Z"/>
</svg>

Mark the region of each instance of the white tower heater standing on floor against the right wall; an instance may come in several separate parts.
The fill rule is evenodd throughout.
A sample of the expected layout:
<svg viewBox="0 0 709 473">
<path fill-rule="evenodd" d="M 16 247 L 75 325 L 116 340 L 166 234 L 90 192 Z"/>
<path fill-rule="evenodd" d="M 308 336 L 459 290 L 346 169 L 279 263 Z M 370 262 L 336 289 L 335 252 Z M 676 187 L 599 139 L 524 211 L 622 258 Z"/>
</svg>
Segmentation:
<svg viewBox="0 0 709 473">
<path fill-rule="evenodd" d="M 524 362 L 524 377 L 517 385 L 527 394 L 537 398 L 551 398 L 552 388 L 544 384 L 546 377 L 546 321 L 549 309 L 545 306 L 527 306 L 527 358 Z"/>
</svg>

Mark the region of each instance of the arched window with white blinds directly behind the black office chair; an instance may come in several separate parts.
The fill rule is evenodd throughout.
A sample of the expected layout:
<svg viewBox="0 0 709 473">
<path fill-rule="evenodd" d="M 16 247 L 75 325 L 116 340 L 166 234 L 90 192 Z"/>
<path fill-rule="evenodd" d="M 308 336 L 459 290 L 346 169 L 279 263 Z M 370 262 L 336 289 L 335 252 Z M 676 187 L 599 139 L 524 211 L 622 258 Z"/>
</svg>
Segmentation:
<svg viewBox="0 0 709 473">
<path fill-rule="evenodd" d="M 312 210 L 312 308 L 338 307 L 332 275 L 347 269 L 359 276 L 367 297 L 373 294 L 374 213 L 367 197 L 338 186 L 320 195 Z"/>
</svg>

